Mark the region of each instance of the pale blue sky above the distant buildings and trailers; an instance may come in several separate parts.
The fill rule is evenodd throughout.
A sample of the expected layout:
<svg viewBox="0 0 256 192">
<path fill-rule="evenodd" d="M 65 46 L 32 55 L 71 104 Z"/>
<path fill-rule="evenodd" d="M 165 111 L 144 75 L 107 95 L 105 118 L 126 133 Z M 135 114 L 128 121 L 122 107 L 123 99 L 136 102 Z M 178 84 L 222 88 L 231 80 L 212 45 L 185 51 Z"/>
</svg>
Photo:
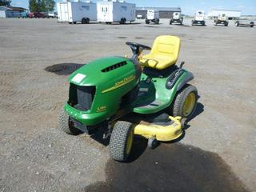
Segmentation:
<svg viewBox="0 0 256 192">
<path fill-rule="evenodd" d="M 85 1 L 84 1 L 85 2 Z M 93 2 L 97 2 L 93 0 Z M 242 10 L 242 14 L 256 15 L 256 0 L 127 0 L 136 6 L 163 6 L 182 8 L 182 14 L 194 14 L 196 10 Z M 28 8 L 28 0 L 12 0 L 12 6 Z"/>
</svg>

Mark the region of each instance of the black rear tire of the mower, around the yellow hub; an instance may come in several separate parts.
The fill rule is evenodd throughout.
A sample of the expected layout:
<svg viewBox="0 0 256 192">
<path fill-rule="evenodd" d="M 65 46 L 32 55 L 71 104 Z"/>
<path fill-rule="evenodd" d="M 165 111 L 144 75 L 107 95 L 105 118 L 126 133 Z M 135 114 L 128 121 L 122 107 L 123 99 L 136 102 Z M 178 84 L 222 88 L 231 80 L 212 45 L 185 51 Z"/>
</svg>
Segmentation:
<svg viewBox="0 0 256 192">
<path fill-rule="evenodd" d="M 194 97 L 195 97 L 194 98 L 195 99 L 194 106 L 193 106 L 193 109 L 191 110 L 190 114 L 184 114 L 183 113 L 183 106 L 184 106 L 184 103 L 185 103 L 185 100 L 186 100 L 187 96 L 190 93 L 193 93 Z M 187 118 L 188 120 L 190 120 L 190 118 L 194 114 L 194 110 L 197 107 L 197 101 L 198 101 L 198 90 L 197 90 L 197 88 L 195 86 L 191 86 L 189 84 L 186 84 L 186 86 L 184 86 L 182 88 L 182 90 L 180 90 L 178 92 L 178 94 L 176 95 L 176 98 L 174 99 L 173 107 L 171 107 L 171 110 L 172 110 L 171 112 L 174 115 L 174 117 L 180 116 L 182 118 Z"/>
</svg>

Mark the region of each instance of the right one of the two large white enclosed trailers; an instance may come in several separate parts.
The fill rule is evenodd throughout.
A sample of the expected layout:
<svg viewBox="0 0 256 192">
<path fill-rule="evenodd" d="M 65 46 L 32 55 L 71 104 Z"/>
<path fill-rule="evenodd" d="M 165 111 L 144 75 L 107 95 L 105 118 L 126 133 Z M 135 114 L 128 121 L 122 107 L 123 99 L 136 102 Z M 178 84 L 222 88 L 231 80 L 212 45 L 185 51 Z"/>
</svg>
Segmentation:
<svg viewBox="0 0 256 192">
<path fill-rule="evenodd" d="M 98 22 L 106 22 L 106 24 L 120 22 L 120 24 L 125 24 L 126 22 L 135 21 L 135 4 L 133 3 L 106 0 L 97 3 L 97 10 Z"/>
</svg>

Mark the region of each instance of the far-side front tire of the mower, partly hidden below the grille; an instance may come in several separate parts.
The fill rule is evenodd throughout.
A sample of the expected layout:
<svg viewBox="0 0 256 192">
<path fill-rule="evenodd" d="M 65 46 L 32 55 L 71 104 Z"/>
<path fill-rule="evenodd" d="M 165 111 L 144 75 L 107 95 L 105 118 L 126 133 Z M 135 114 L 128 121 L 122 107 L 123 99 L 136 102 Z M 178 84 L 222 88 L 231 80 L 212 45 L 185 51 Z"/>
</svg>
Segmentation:
<svg viewBox="0 0 256 192">
<path fill-rule="evenodd" d="M 70 116 L 66 113 L 64 109 L 62 109 L 59 113 L 58 128 L 64 131 L 66 134 L 77 135 L 82 133 L 81 130 L 78 130 L 74 126 L 70 125 Z"/>
</svg>

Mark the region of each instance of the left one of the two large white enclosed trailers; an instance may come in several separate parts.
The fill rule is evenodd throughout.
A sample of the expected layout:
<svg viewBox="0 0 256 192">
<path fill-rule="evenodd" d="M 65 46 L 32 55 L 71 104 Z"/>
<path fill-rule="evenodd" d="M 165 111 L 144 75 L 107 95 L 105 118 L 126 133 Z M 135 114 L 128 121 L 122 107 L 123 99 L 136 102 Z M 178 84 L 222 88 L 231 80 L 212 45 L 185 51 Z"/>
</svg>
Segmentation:
<svg viewBox="0 0 256 192">
<path fill-rule="evenodd" d="M 57 2 L 58 22 L 87 24 L 97 21 L 97 6 L 94 2 Z"/>
</svg>

